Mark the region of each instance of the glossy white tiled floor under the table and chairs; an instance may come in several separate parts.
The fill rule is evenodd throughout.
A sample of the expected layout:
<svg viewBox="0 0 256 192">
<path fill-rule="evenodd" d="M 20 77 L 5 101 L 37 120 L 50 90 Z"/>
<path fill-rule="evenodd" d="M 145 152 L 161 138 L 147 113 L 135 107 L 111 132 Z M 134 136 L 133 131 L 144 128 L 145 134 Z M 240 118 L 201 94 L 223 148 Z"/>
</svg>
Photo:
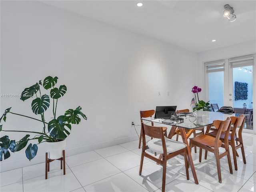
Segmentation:
<svg viewBox="0 0 256 192">
<path fill-rule="evenodd" d="M 221 159 L 222 183 L 218 182 L 214 155 L 198 162 L 199 150 L 192 158 L 196 167 L 199 184 L 186 180 L 184 159 L 177 156 L 168 160 L 166 192 L 246 192 L 256 191 L 256 135 L 243 134 L 246 150 L 246 164 L 242 154 L 237 159 L 238 170 L 230 174 L 226 158 Z M 50 163 L 50 173 L 45 180 L 45 164 L 0 173 L 1 192 L 160 192 L 162 186 L 162 166 L 144 160 L 142 175 L 139 176 L 140 153 L 138 141 L 94 150 L 66 157 L 66 175 L 60 170 L 60 162 Z M 232 154 L 232 153 L 231 153 Z M 233 157 L 232 157 L 233 158 Z M 232 159 L 233 164 L 233 159 Z M 190 170 L 190 169 L 189 169 Z"/>
</svg>

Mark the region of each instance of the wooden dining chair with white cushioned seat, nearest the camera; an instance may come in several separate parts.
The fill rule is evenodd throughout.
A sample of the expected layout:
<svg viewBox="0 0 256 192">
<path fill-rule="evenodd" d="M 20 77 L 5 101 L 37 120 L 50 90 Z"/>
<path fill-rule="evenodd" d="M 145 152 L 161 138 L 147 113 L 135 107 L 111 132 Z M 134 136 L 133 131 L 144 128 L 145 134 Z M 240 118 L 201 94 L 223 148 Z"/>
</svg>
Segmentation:
<svg viewBox="0 0 256 192">
<path fill-rule="evenodd" d="M 146 136 L 153 137 L 152 140 L 146 143 Z M 142 174 L 142 166 L 144 157 L 149 158 L 156 163 L 163 166 L 162 174 L 162 192 L 165 191 L 165 180 L 166 180 L 166 166 L 167 160 L 173 158 L 179 154 L 184 156 L 187 180 L 189 180 L 188 174 L 188 160 L 187 160 L 187 145 L 183 142 L 175 141 L 164 136 L 164 128 L 149 126 L 142 123 L 142 154 L 140 160 L 139 175 Z M 162 158 L 156 158 L 147 152 L 147 149 L 152 150 L 158 154 L 162 154 Z"/>
</svg>

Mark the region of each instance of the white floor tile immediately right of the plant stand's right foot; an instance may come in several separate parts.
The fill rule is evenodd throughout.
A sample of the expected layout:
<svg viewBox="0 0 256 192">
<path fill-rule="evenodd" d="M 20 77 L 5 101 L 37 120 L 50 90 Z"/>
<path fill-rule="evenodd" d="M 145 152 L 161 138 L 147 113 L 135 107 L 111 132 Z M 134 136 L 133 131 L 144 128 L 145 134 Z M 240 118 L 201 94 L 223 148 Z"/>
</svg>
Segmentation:
<svg viewBox="0 0 256 192">
<path fill-rule="evenodd" d="M 86 186 L 120 173 L 115 166 L 105 159 L 95 160 L 70 168 L 82 186 Z"/>
</svg>

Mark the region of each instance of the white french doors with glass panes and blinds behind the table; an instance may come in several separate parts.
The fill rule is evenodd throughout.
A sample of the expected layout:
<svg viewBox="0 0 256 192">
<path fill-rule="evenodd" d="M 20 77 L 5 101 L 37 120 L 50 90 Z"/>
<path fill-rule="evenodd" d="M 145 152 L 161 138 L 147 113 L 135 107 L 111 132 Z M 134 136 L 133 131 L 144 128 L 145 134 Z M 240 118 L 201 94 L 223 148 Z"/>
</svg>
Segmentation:
<svg viewBox="0 0 256 192">
<path fill-rule="evenodd" d="M 236 114 L 245 114 L 244 132 L 253 128 L 255 55 L 206 62 L 206 99 L 210 103 L 232 106 Z M 255 127 L 255 126 L 254 126 Z"/>
</svg>

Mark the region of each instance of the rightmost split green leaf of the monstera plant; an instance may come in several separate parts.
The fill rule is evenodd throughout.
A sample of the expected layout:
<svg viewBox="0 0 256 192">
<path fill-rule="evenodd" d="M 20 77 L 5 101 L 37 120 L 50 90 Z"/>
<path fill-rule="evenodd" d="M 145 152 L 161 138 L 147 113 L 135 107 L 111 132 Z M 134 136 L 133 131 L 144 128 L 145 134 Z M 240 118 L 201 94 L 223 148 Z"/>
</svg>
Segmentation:
<svg viewBox="0 0 256 192">
<path fill-rule="evenodd" d="M 78 115 L 81 115 L 85 120 L 87 120 L 87 117 L 85 116 L 85 114 L 83 114 L 81 112 L 81 107 L 78 106 L 76 108 L 76 110 L 73 110 L 73 109 L 69 109 L 65 112 L 65 120 L 68 122 L 68 123 L 72 123 L 72 124 L 79 124 L 81 119 L 79 118 Z"/>
</svg>

